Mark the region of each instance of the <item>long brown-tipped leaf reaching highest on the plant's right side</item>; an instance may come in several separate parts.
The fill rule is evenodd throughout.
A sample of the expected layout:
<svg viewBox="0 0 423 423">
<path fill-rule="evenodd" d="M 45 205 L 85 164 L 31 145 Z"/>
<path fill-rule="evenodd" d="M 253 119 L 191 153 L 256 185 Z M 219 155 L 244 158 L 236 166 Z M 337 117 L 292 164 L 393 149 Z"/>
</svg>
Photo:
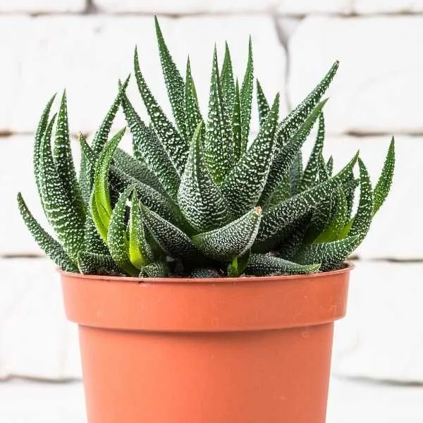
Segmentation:
<svg viewBox="0 0 423 423">
<path fill-rule="evenodd" d="M 310 92 L 307 97 L 305 97 L 305 99 L 283 119 L 279 128 L 278 144 L 280 146 L 282 146 L 286 140 L 290 140 L 293 134 L 305 122 L 307 116 L 309 116 L 316 107 L 317 103 L 319 103 L 321 96 L 326 92 L 336 71 L 338 71 L 338 66 L 338 61 L 333 63 L 329 72 L 324 75 L 324 78 L 314 87 L 314 90 L 312 90 L 312 92 Z"/>
</svg>

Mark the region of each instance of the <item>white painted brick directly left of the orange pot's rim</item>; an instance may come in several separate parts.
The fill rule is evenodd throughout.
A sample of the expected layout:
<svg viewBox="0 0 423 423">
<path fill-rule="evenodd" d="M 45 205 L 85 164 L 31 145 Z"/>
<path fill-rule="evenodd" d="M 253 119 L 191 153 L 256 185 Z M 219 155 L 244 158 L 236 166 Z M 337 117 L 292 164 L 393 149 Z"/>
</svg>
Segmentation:
<svg viewBox="0 0 423 423">
<path fill-rule="evenodd" d="M 66 321 L 48 259 L 0 259 L 0 378 L 80 376 L 78 332 Z"/>
</svg>

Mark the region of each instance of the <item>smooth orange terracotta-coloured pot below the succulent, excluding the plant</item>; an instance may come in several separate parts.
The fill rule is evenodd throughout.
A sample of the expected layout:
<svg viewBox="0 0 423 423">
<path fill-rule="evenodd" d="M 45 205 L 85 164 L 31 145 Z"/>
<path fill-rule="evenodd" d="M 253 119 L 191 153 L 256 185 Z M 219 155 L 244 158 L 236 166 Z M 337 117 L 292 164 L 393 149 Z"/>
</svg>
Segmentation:
<svg viewBox="0 0 423 423">
<path fill-rule="evenodd" d="M 89 423 L 324 423 L 350 269 L 138 279 L 62 272 Z"/>
</svg>

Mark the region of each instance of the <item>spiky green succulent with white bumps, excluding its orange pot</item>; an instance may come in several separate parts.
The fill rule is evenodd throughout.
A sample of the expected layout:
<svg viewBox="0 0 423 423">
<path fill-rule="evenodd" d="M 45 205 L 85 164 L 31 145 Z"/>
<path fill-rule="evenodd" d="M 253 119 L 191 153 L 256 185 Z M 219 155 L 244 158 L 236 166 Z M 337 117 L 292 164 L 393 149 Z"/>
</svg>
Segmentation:
<svg viewBox="0 0 423 423">
<path fill-rule="evenodd" d="M 251 40 L 242 81 L 233 76 L 228 44 L 221 68 L 215 47 L 204 118 L 189 59 L 184 79 L 157 20 L 155 25 L 174 123 L 145 82 L 135 50 L 135 80 L 150 122 L 142 121 L 125 94 L 129 78 L 119 82 L 91 145 L 80 136 L 78 178 L 66 93 L 59 113 L 49 118 L 53 97 L 35 135 L 34 168 L 57 240 L 39 226 L 18 194 L 20 212 L 40 247 L 61 269 L 84 274 L 262 276 L 341 266 L 388 195 L 395 154 L 392 140 L 374 188 L 358 153 L 333 174 L 333 159 L 326 161 L 322 154 L 326 100 L 321 97 L 338 62 L 283 119 L 278 94 L 270 104 L 257 80 L 259 131 L 250 136 Z M 109 137 L 120 107 L 132 134 L 133 156 L 118 147 L 125 129 Z M 315 124 L 317 137 L 304 166 L 302 145 Z"/>
</svg>

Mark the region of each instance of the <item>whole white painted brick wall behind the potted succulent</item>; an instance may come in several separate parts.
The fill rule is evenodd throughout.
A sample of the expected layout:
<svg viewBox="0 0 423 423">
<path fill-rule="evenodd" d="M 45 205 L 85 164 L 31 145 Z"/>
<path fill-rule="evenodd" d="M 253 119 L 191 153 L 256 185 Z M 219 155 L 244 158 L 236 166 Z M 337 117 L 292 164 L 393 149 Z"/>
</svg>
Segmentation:
<svg viewBox="0 0 423 423">
<path fill-rule="evenodd" d="M 282 114 L 341 61 L 325 107 L 336 167 L 360 149 L 376 183 L 396 136 L 391 196 L 357 251 L 348 317 L 336 326 L 328 423 L 422 422 L 422 13 L 423 0 L 0 0 L 0 422 L 84 422 L 78 336 L 16 193 L 45 223 L 32 174 L 44 104 L 66 87 L 71 130 L 92 136 L 133 71 L 135 44 L 170 111 L 154 14 L 183 73 L 190 54 L 203 111 L 214 42 L 223 60 L 228 40 L 241 77 L 251 34 L 255 75 L 268 98 L 281 92 Z M 133 80 L 128 92 L 142 111 Z"/>
</svg>

